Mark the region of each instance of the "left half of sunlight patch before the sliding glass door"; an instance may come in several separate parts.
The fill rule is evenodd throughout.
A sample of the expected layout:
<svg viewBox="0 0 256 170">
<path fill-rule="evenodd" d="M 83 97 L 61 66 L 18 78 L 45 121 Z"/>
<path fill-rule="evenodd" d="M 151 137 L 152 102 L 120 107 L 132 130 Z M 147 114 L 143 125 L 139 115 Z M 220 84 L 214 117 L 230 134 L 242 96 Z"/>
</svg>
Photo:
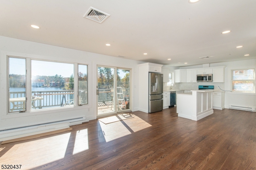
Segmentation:
<svg viewBox="0 0 256 170">
<path fill-rule="evenodd" d="M 100 121 L 99 123 L 106 142 L 131 134 L 121 121 L 110 124 L 104 124 Z"/>
</svg>

